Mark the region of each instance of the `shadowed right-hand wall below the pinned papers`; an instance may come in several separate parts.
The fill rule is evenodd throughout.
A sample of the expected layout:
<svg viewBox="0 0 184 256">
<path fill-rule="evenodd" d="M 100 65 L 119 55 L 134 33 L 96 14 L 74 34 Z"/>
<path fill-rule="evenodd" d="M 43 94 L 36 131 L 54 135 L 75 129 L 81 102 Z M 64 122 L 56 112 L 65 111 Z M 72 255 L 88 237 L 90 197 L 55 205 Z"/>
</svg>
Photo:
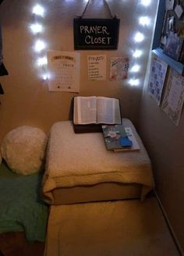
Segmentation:
<svg viewBox="0 0 184 256">
<path fill-rule="evenodd" d="M 146 89 L 139 131 L 153 163 L 157 194 L 184 248 L 184 113 L 179 126 L 175 126 Z"/>
</svg>

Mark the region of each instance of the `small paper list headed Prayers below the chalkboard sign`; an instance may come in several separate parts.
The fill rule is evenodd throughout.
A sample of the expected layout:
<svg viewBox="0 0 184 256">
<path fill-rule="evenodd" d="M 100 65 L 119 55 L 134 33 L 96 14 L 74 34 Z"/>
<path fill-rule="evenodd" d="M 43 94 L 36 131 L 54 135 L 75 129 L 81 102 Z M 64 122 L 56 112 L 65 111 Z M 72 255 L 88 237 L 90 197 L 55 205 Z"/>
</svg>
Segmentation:
<svg viewBox="0 0 184 256">
<path fill-rule="evenodd" d="M 106 80 L 106 55 L 88 55 L 88 80 Z"/>
</svg>

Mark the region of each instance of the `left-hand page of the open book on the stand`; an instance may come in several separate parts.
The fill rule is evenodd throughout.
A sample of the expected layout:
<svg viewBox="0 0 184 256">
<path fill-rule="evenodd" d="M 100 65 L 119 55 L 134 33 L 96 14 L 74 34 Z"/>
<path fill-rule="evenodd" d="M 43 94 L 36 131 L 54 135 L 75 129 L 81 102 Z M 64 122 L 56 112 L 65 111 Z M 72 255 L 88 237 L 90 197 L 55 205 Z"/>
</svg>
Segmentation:
<svg viewBox="0 0 184 256">
<path fill-rule="evenodd" d="M 74 98 L 74 124 L 97 123 L 97 98 L 75 97 Z"/>
</svg>

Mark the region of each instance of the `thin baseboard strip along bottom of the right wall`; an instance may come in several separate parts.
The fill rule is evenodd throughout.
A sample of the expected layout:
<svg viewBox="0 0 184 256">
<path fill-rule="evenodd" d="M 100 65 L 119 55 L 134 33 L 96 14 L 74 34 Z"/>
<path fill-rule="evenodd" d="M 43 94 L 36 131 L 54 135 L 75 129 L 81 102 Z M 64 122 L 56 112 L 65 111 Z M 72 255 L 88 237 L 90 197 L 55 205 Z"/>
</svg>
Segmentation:
<svg viewBox="0 0 184 256">
<path fill-rule="evenodd" d="M 161 203 L 161 200 L 160 200 L 160 198 L 158 197 L 157 192 L 156 192 L 155 190 L 154 190 L 154 194 L 155 194 L 155 197 L 157 198 L 157 202 L 158 202 L 158 204 L 159 204 L 159 206 L 160 206 L 160 208 L 161 208 L 161 212 L 163 213 L 163 215 L 164 215 L 164 217 L 165 217 L 165 222 L 166 222 L 167 225 L 168 225 L 168 229 L 169 229 L 169 231 L 170 231 L 170 233 L 171 233 L 171 235 L 172 235 L 172 238 L 173 238 L 173 240 L 174 240 L 174 242 L 175 242 L 175 246 L 177 247 L 180 256 L 184 256 L 184 252 L 183 252 L 183 250 L 182 250 L 181 245 L 179 244 L 178 238 L 175 236 L 174 229 L 172 228 L 172 224 L 171 224 L 171 222 L 170 222 L 169 219 L 168 219 L 168 215 L 167 215 L 167 213 L 165 212 L 165 208 L 164 208 L 163 204 Z"/>
</svg>

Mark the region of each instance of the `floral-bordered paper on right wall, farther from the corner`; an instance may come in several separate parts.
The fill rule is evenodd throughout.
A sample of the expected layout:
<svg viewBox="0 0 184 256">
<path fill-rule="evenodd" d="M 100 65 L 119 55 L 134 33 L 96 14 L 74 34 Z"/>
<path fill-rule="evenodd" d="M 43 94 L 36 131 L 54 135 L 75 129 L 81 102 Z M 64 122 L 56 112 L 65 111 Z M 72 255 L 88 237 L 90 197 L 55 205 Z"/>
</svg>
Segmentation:
<svg viewBox="0 0 184 256">
<path fill-rule="evenodd" d="M 184 101 L 184 76 L 171 69 L 161 108 L 177 126 Z"/>
</svg>

